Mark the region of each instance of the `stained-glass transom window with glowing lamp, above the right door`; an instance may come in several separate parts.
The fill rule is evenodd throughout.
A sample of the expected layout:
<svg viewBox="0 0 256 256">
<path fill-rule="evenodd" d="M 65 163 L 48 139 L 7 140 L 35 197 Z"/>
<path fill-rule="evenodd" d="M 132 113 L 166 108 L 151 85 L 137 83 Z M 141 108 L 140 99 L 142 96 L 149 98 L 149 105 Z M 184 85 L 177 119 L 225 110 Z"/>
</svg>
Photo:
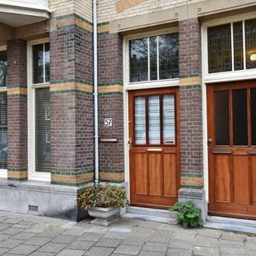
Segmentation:
<svg viewBox="0 0 256 256">
<path fill-rule="evenodd" d="M 256 19 L 211 26 L 207 34 L 209 73 L 256 68 Z"/>
</svg>

